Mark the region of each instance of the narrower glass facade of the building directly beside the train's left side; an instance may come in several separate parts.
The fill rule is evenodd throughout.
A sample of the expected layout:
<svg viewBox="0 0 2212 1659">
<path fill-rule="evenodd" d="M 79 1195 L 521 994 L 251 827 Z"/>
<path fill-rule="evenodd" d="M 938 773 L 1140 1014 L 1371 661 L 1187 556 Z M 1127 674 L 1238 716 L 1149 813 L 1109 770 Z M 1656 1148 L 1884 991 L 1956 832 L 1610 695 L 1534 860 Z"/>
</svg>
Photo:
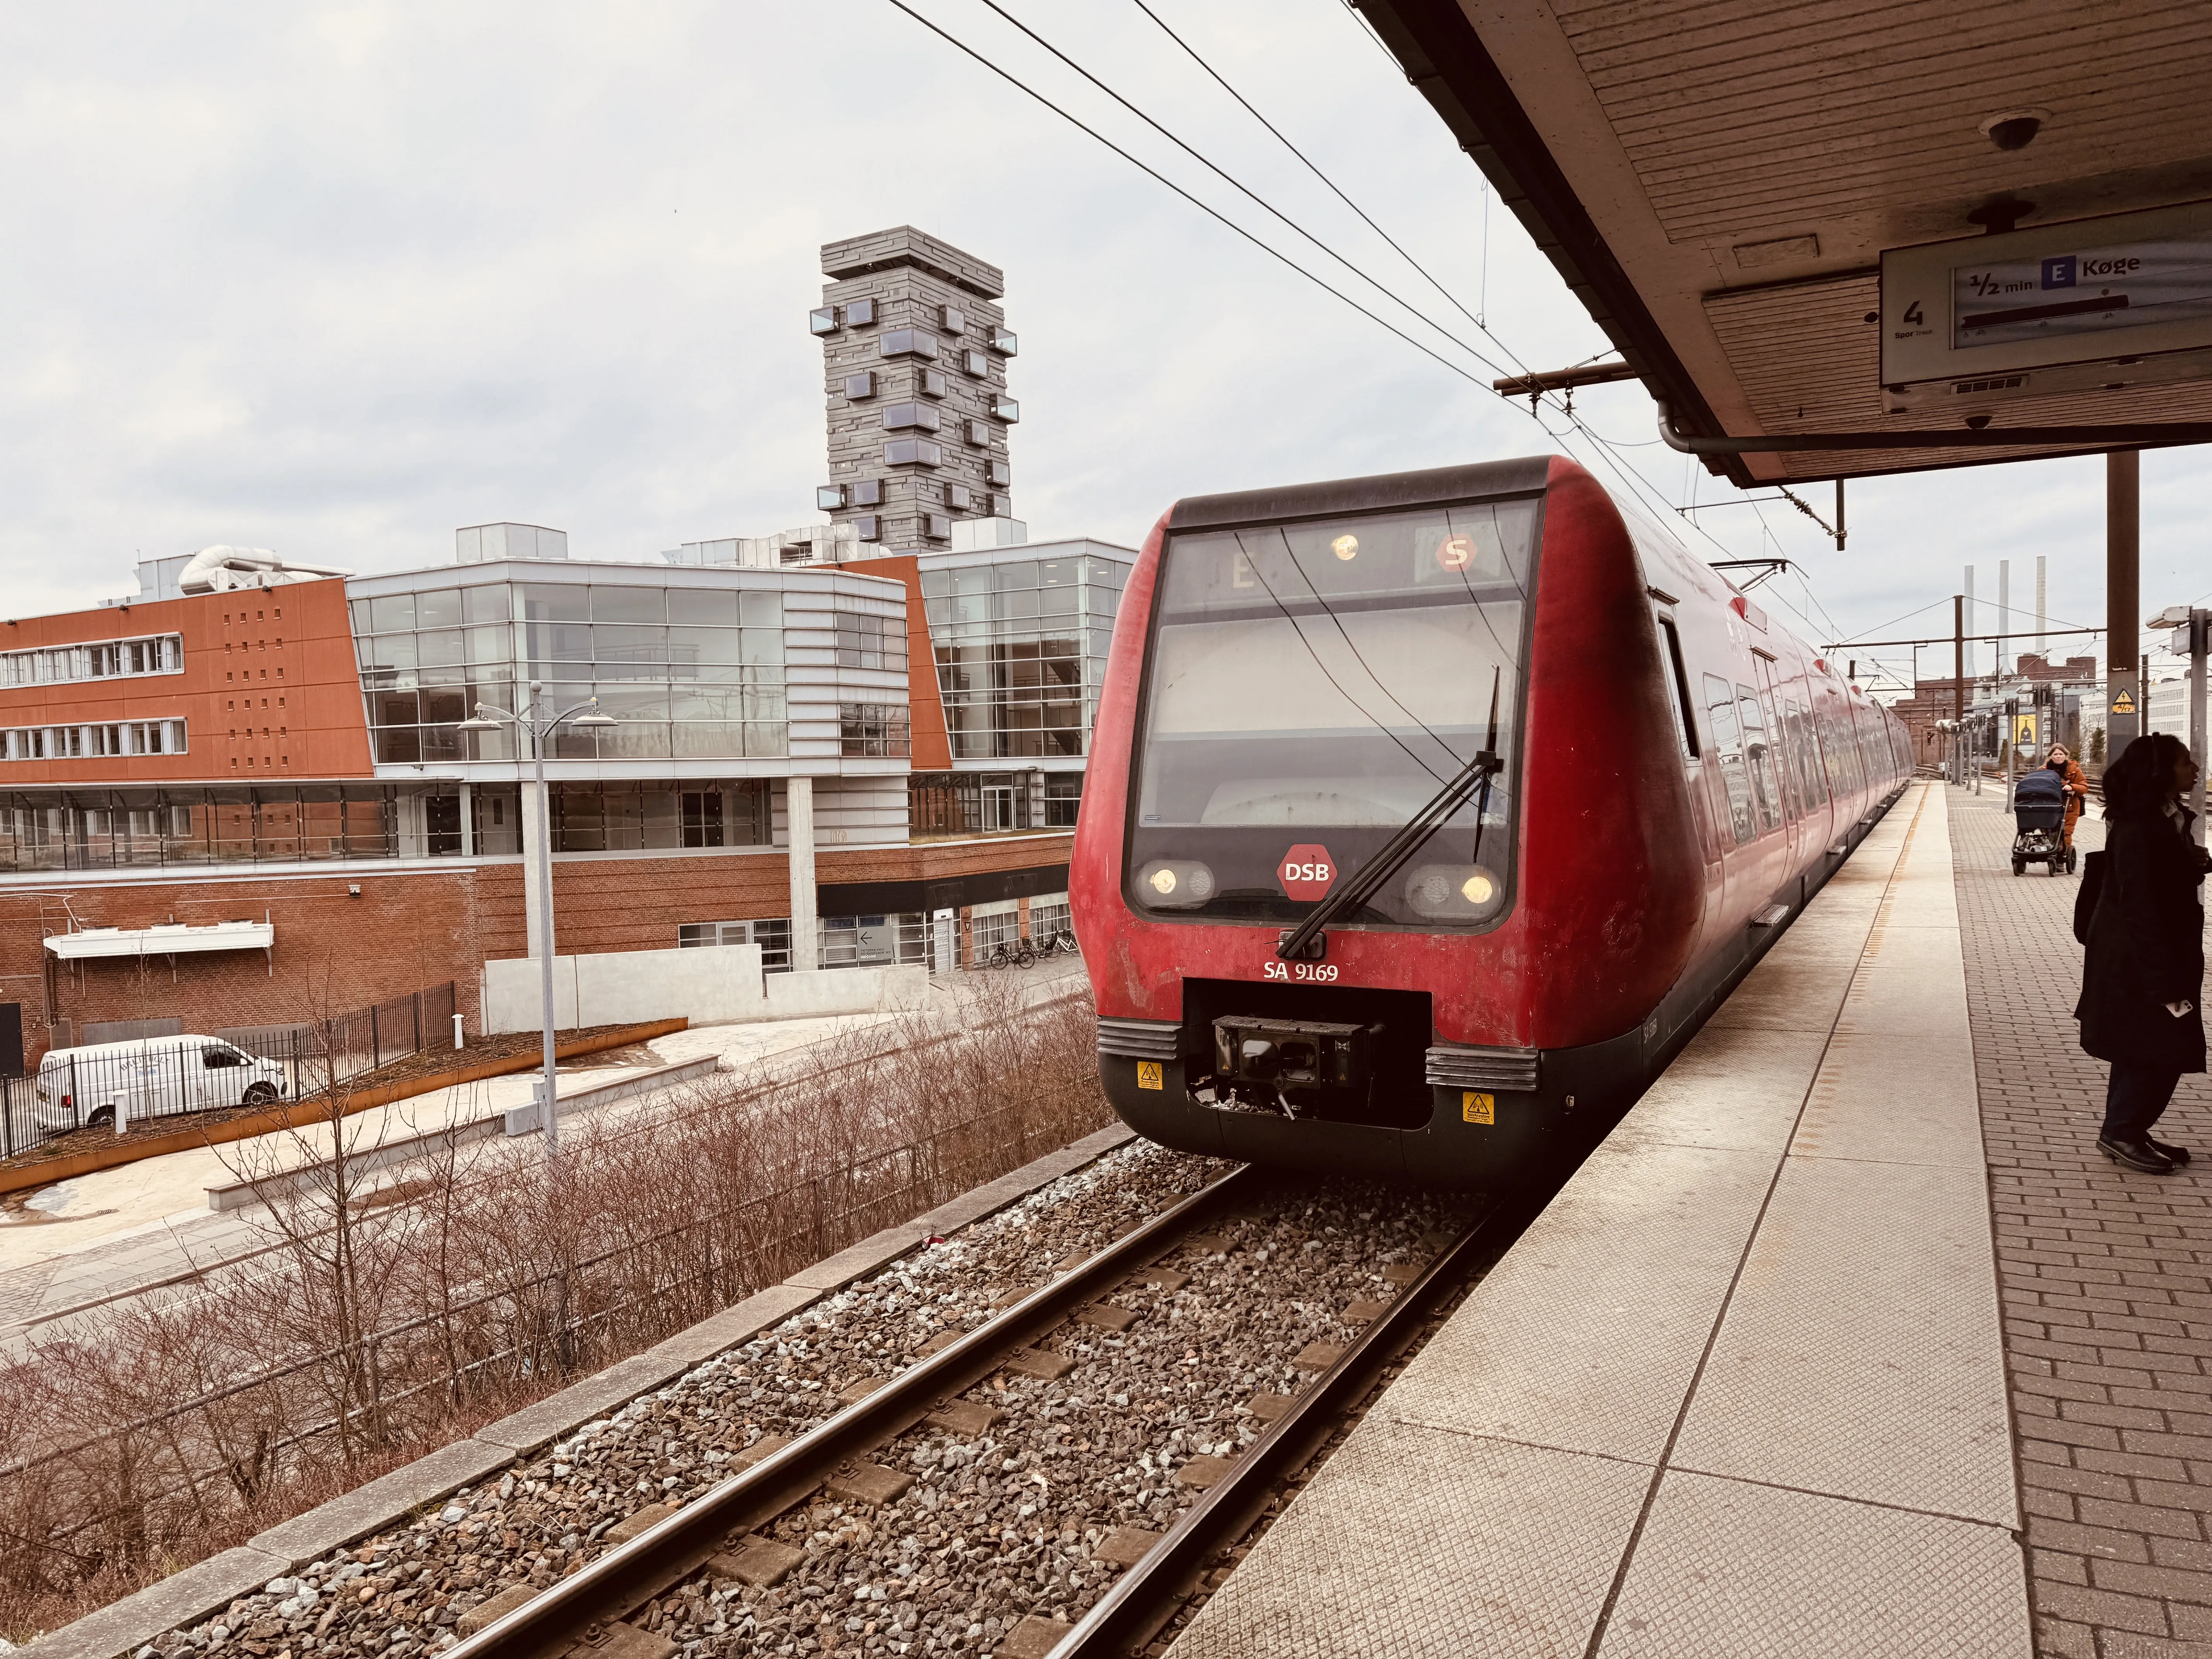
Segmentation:
<svg viewBox="0 0 2212 1659">
<path fill-rule="evenodd" d="M 922 571 L 956 761 L 1084 752 L 1126 580 L 1088 555 Z"/>
</svg>

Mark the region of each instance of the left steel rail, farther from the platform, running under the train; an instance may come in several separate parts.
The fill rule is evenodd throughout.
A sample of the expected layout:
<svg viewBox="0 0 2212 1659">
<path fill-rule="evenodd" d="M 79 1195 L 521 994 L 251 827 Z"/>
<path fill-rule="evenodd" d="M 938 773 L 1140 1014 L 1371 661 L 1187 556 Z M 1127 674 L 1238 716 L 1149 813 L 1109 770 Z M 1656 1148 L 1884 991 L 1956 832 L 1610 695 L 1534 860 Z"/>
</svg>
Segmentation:
<svg viewBox="0 0 2212 1659">
<path fill-rule="evenodd" d="M 1208 1212 L 1245 1192 L 1259 1177 L 1250 1166 L 1190 1194 L 1130 1234 L 1108 1243 L 1079 1267 L 984 1321 L 940 1354 L 907 1367 L 865 1400 L 845 1407 L 770 1458 L 723 1480 L 690 1504 L 655 1522 L 626 1544 L 582 1566 L 442 1659 L 557 1659 L 595 1626 L 622 1619 L 655 1595 L 681 1584 L 714 1555 L 730 1533 L 781 1515 L 821 1486 L 847 1460 L 883 1447 L 938 1409 L 938 1402 L 975 1387 L 1000 1369 L 1006 1354 L 1060 1325 L 1075 1307 L 1119 1285 Z"/>
</svg>

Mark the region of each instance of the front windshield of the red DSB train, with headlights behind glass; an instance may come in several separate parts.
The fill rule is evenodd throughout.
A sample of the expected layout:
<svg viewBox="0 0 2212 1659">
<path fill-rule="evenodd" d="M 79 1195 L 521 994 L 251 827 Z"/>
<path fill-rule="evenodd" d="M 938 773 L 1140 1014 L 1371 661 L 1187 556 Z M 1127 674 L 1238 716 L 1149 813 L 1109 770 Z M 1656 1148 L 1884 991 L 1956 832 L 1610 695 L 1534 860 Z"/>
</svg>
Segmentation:
<svg viewBox="0 0 2212 1659">
<path fill-rule="evenodd" d="M 1296 920 L 1318 896 L 1301 867 L 1329 865 L 1334 885 L 1493 750 L 1504 768 L 1345 920 L 1495 920 L 1535 524 L 1522 498 L 1170 535 L 1130 900 L 1161 918 Z"/>
</svg>

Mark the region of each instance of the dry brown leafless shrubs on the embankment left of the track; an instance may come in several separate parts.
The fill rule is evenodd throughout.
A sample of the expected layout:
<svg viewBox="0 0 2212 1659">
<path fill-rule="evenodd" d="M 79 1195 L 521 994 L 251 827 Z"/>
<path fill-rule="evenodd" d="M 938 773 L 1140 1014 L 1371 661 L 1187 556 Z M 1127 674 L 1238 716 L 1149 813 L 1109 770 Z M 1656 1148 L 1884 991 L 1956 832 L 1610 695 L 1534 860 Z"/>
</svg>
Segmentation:
<svg viewBox="0 0 2212 1659">
<path fill-rule="evenodd" d="M 0 1360 L 0 1635 L 243 1542 L 1108 1121 L 1088 1002 L 975 993 L 889 1051 L 878 1029 L 801 1075 L 564 1124 L 555 1164 L 535 1139 L 374 1177 L 341 1152 L 268 1212 L 276 1250 L 252 1272 Z M 358 1119 L 336 1133 L 352 1150 Z M 394 1183 L 411 1201 L 369 1201 Z"/>
</svg>

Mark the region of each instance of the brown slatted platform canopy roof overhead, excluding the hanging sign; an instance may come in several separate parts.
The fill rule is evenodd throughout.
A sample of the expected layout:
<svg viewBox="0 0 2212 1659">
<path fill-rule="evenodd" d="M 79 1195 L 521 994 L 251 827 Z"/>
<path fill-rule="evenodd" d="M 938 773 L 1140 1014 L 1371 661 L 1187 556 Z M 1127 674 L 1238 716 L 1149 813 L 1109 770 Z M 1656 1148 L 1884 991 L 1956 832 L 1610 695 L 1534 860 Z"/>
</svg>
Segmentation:
<svg viewBox="0 0 2212 1659">
<path fill-rule="evenodd" d="M 2212 199 L 2201 0 L 1354 2 L 1692 438 L 1960 429 L 1885 411 L 1885 250 Z M 2115 374 L 1986 425 L 2208 420 L 2212 378 Z M 1752 484 L 2110 447 L 2135 445 L 1708 465 Z"/>
</svg>

